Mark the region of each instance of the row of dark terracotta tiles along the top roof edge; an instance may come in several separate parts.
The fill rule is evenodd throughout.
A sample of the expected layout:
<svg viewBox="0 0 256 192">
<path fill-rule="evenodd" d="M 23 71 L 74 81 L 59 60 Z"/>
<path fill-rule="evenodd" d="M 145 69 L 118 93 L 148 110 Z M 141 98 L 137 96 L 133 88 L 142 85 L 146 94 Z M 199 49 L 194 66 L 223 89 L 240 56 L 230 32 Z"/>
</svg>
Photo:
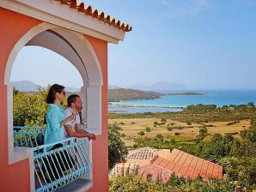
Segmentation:
<svg viewBox="0 0 256 192">
<path fill-rule="evenodd" d="M 53 0 L 52 0 L 53 1 Z M 55 0 L 59 3 L 70 6 L 70 9 L 76 9 L 84 15 L 89 15 L 99 21 L 105 22 L 113 27 L 124 30 L 125 32 L 130 32 L 132 27 L 129 24 L 125 24 L 115 18 L 112 18 L 110 15 L 105 14 L 97 9 L 93 9 L 90 5 L 85 5 L 84 3 L 76 3 L 76 0 Z"/>
</svg>

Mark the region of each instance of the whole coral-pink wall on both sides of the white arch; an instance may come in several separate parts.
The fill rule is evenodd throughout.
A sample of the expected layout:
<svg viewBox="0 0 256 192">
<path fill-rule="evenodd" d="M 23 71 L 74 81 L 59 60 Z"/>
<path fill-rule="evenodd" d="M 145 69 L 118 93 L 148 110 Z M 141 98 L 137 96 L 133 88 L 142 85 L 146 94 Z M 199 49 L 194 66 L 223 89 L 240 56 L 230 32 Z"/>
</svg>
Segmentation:
<svg viewBox="0 0 256 192">
<path fill-rule="evenodd" d="M 29 29 L 41 21 L 0 8 L 0 191 L 29 191 L 30 177 L 28 159 L 8 165 L 8 123 L 7 87 L 4 85 L 4 72 L 10 51 L 15 43 Z M 93 141 L 93 189 L 90 192 L 108 191 L 108 152 L 107 152 L 107 42 L 86 37 L 101 63 L 103 75 L 102 93 L 102 135 Z"/>
</svg>

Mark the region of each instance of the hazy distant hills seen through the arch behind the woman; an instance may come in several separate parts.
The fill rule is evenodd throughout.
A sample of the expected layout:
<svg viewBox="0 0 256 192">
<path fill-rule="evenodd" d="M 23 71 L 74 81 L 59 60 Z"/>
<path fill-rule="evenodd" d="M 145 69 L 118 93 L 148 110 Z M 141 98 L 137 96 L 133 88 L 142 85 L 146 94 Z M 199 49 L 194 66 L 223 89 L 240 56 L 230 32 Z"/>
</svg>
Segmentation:
<svg viewBox="0 0 256 192">
<path fill-rule="evenodd" d="M 36 92 L 37 88 L 40 87 L 39 85 L 35 84 L 32 81 L 12 81 L 11 82 L 12 87 L 15 87 L 20 92 Z M 46 87 L 42 87 L 45 89 Z M 74 92 L 80 92 L 80 88 L 76 87 L 65 87 L 66 92 L 74 93 Z"/>
</svg>

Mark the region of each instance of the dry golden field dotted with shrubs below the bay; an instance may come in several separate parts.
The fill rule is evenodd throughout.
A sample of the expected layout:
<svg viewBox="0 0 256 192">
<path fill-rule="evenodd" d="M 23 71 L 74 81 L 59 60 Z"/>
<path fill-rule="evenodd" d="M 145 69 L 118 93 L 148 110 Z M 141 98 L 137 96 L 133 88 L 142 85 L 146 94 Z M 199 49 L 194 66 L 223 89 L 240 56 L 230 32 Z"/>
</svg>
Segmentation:
<svg viewBox="0 0 256 192">
<path fill-rule="evenodd" d="M 208 122 L 208 123 L 182 123 L 180 121 L 167 120 L 163 125 L 157 125 L 154 127 L 154 123 L 161 123 L 161 118 L 121 118 L 121 119 L 109 119 L 108 123 L 118 123 L 123 128 L 122 140 L 125 141 L 127 147 L 132 147 L 134 139 L 137 137 L 155 137 L 157 134 L 174 138 L 175 141 L 194 141 L 199 135 L 199 129 L 202 126 L 206 126 L 208 129 L 208 135 L 205 137 L 207 140 L 210 135 L 220 133 L 222 135 L 227 133 L 233 133 L 235 137 L 239 137 L 239 132 L 243 129 L 250 127 L 250 120 L 241 120 L 238 123 L 228 125 L 231 121 L 226 122 Z M 150 128 L 150 132 L 146 131 L 146 128 Z M 169 128 L 169 130 L 168 130 Z M 139 132 L 143 131 L 145 135 L 138 135 Z M 175 135 L 179 133 L 180 135 Z"/>
</svg>

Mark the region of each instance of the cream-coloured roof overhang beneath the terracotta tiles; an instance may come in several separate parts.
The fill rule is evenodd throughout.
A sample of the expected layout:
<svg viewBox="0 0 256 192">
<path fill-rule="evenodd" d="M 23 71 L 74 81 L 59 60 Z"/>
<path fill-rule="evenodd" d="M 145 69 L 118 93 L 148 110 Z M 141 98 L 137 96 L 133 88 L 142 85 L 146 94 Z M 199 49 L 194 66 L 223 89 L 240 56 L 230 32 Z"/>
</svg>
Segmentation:
<svg viewBox="0 0 256 192">
<path fill-rule="evenodd" d="M 78 12 L 76 9 L 70 9 L 70 5 L 58 1 L 1 0 L 0 7 L 113 44 L 118 44 L 119 40 L 125 39 L 124 30 L 113 27 L 91 15 Z"/>
</svg>

